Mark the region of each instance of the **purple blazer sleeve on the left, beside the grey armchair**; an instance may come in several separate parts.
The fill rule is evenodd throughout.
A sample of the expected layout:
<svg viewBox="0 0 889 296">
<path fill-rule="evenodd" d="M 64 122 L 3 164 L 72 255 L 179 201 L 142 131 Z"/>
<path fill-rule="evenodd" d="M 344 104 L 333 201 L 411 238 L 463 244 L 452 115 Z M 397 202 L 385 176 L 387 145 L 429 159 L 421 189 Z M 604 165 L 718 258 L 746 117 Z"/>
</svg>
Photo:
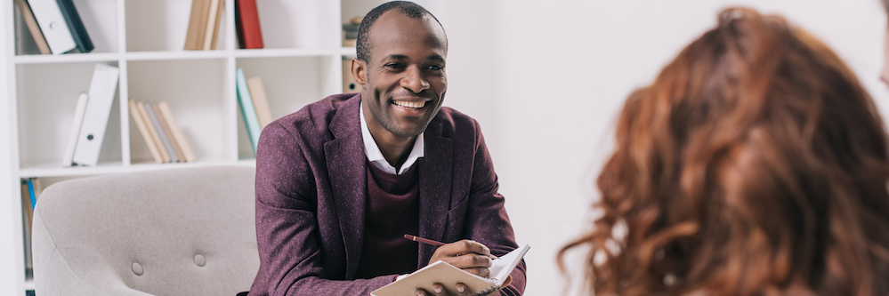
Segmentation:
<svg viewBox="0 0 889 296">
<path fill-rule="evenodd" d="M 329 279 L 320 247 L 316 176 L 300 137 L 279 122 L 269 124 L 260 137 L 256 153 L 260 270 L 250 295 L 368 295 L 392 283 L 395 276 Z"/>
</svg>

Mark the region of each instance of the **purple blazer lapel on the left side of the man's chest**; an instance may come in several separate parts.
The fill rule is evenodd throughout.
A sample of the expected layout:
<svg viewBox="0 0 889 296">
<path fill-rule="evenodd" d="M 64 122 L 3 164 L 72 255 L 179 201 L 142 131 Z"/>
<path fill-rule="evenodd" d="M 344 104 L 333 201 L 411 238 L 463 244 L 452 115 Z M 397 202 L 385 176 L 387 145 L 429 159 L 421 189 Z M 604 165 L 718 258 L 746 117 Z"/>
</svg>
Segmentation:
<svg viewBox="0 0 889 296">
<path fill-rule="evenodd" d="M 343 233 L 346 276 L 358 270 L 364 242 L 367 200 L 367 156 L 361 139 L 359 100 L 349 100 L 330 122 L 335 139 L 324 143 L 327 178 L 336 205 L 336 218 Z"/>
</svg>

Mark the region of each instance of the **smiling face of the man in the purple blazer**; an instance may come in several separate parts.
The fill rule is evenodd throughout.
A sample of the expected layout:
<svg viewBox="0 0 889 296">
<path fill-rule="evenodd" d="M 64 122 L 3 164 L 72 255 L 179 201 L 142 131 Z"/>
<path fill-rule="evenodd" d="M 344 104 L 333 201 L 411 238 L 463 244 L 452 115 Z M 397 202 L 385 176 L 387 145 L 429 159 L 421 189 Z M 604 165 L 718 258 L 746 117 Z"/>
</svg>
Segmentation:
<svg viewBox="0 0 889 296">
<path fill-rule="evenodd" d="M 414 137 L 438 113 L 448 90 L 444 30 L 428 15 L 412 19 L 389 11 L 368 33 L 368 61 L 352 62 L 352 75 L 363 87 L 362 108 L 372 115 L 366 116 L 368 129 L 377 141 Z"/>
</svg>

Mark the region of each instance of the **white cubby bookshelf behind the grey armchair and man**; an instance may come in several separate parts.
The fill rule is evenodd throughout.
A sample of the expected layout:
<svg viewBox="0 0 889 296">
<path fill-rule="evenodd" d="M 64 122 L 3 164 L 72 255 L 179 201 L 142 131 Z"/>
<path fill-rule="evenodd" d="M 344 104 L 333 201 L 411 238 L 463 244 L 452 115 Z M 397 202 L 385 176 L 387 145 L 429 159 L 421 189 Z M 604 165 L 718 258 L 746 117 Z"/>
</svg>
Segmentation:
<svg viewBox="0 0 889 296">
<path fill-rule="evenodd" d="M 431 10 L 441 0 L 417 1 Z M 163 168 L 253 164 L 254 153 L 238 111 L 235 71 L 262 76 L 272 116 L 285 116 L 312 101 L 342 91 L 342 60 L 354 47 L 342 46 L 341 24 L 363 15 L 381 0 L 257 1 L 264 49 L 239 50 L 234 1 L 225 0 L 216 50 L 183 51 L 189 0 L 75 0 L 95 49 L 89 53 L 41 55 L 18 8 L 6 1 L 3 72 L 0 74 L 8 121 L 0 135 L 0 294 L 33 291 L 23 260 L 19 182 L 41 178 L 44 187 L 60 180 Z M 432 4 L 432 7 L 430 7 Z M 432 10 L 434 12 L 434 10 Z M 87 91 L 97 63 L 120 69 L 115 103 L 94 167 L 62 167 L 77 93 Z M 197 161 L 154 164 L 127 99 L 166 101 Z M 7 215 L 6 213 L 12 213 Z M 14 254 L 10 256 L 10 252 Z"/>
</svg>

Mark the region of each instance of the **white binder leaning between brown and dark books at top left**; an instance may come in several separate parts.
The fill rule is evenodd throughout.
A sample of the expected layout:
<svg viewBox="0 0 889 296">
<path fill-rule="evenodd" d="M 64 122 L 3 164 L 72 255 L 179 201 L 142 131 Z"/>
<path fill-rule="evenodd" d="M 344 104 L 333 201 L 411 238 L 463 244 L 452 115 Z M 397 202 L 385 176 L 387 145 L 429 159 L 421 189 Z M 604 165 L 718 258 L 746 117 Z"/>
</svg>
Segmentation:
<svg viewBox="0 0 889 296">
<path fill-rule="evenodd" d="M 46 38 L 50 52 L 62 54 L 77 48 L 74 36 L 71 36 L 68 23 L 56 0 L 28 0 L 28 5 L 31 7 L 31 12 L 34 13 L 40 31 Z"/>
</svg>

